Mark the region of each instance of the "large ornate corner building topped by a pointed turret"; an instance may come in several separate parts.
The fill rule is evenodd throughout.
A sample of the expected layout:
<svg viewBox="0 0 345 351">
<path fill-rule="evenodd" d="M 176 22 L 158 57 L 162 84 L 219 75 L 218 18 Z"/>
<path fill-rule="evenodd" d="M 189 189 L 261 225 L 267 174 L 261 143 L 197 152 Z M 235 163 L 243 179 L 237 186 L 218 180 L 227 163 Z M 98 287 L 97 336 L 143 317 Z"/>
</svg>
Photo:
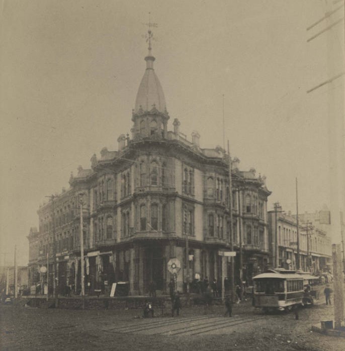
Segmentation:
<svg viewBox="0 0 345 351">
<path fill-rule="evenodd" d="M 230 196 L 225 151 L 201 148 L 197 132 L 188 141 L 177 119 L 173 130 L 168 130 L 170 117 L 154 60 L 149 48 L 132 112 L 131 138 L 120 135 L 118 151 L 102 149 L 99 157 L 91 158 L 90 169 L 79 167 L 70 176 L 68 190 L 39 208 L 39 229 L 32 228 L 28 236 L 31 285 L 41 282 L 44 286 L 48 281 L 51 292 L 55 279 L 59 294 L 65 286 L 80 291 L 80 198 L 87 293 L 107 292 L 118 281 L 129 282 L 131 295 L 146 293 L 150 281 L 157 290 L 166 291 L 170 258 L 181 262 L 180 291 L 187 277 L 191 281 L 197 273 L 220 280 L 218 253 L 230 248 L 230 198 L 237 252 L 235 282 L 240 274 L 240 246 L 243 280 L 250 283 L 253 275 L 270 264 L 270 191 L 265 177 L 256 176 L 254 169 L 240 171 L 239 160 L 234 158 Z M 39 273 L 47 255 L 48 274 Z"/>
</svg>

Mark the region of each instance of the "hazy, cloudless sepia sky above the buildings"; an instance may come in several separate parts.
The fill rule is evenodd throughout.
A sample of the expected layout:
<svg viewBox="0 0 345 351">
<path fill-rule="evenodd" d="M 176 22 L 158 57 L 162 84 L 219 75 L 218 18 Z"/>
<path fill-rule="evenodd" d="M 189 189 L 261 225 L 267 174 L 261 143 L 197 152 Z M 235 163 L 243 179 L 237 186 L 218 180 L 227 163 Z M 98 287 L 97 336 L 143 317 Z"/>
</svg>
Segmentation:
<svg viewBox="0 0 345 351">
<path fill-rule="evenodd" d="M 279 201 L 296 213 L 296 177 L 300 212 L 331 206 L 329 158 L 343 159 L 329 147 L 341 123 L 332 130 L 328 116 L 335 110 L 343 119 L 343 78 L 307 90 L 344 71 L 343 22 L 307 40 L 343 7 L 307 31 L 327 11 L 325 0 L 0 4 L 0 265 L 13 263 L 14 245 L 27 264 L 26 237 L 46 196 L 130 133 L 149 12 L 168 129 L 178 118 L 189 139 L 199 132 L 202 148 L 222 146 L 224 129 L 240 169 L 266 175 L 269 210 Z M 339 50 L 330 50 L 330 36 Z"/>
</svg>

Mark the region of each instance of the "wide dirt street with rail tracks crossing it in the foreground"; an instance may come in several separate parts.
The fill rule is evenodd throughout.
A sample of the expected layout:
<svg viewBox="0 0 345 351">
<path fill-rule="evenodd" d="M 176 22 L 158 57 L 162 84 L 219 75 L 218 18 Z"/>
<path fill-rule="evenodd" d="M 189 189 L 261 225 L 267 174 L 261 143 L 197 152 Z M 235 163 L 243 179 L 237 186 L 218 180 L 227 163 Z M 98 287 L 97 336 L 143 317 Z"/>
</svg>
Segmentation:
<svg viewBox="0 0 345 351">
<path fill-rule="evenodd" d="M 310 331 L 332 319 L 333 306 L 265 315 L 250 301 L 223 306 L 185 307 L 141 318 L 141 310 L 62 310 L 1 306 L 1 350 L 270 350 L 343 351 L 345 338 Z"/>
</svg>

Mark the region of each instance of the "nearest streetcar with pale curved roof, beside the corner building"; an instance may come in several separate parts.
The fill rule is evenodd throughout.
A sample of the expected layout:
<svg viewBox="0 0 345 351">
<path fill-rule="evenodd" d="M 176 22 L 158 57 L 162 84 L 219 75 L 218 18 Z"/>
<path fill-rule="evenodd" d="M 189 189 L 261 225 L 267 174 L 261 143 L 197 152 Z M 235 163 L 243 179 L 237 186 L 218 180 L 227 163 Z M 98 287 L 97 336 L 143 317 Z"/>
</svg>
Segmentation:
<svg viewBox="0 0 345 351">
<path fill-rule="evenodd" d="M 303 277 L 296 271 L 270 269 L 253 277 L 253 304 L 265 312 L 291 310 L 303 305 Z"/>
</svg>

